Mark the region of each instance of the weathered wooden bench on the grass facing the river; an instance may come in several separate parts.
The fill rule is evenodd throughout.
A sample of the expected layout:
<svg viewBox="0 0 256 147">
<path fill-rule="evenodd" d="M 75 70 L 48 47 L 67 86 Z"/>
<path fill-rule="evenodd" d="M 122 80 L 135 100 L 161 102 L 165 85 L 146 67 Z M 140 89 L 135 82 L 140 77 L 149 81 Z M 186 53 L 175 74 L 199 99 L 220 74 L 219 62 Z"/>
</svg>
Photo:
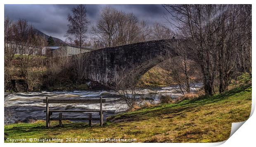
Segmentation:
<svg viewBox="0 0 256 147">
<path fill-rule="evenodd" d="M 103 112 L 106 112 L 105 110 L 102 110 L 102 103 L 106 103 L 106 99 L 51 99 L 49 100 L 48 97 L 46 97 L 45 100 L 43 100 L 43 103 L 46 103 L 46 127 L 50 126 L 51 120 L 59 120 L 59 126 L 62 126 L 62 120 L 85 120 L 89 121 L 89 125 L 92 125 L 92 121 L 100 121 L 100 126 L 103 125 Z M 100 103 L 100 110 L 49 110 L 49 104 L 50 103 Z M 59 118 L 51 118 L 53 112 L 61 112 L 59 113 Z M 88 118 L 63 118 L 62 113 L 63 112 L 99 112 L 100 118 L 92 118 L 92 114 L 89 114 Z"/>
</svg>

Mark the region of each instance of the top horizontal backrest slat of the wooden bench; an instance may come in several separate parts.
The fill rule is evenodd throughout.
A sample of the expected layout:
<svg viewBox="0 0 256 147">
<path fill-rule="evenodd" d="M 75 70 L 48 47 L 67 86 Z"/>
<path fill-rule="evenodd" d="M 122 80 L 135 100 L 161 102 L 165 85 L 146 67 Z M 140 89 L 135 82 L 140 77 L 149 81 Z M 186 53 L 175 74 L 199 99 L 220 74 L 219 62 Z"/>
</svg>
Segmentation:
<svg viewBox="0 0 256 147">
<path fill-rule="evenodd" d="M 46 103 L 46 100 L 43 100 Z M 52 99 L 48 103 L 100 103 L 100 99 Z M 102 99 L 102 103 L 106 103 L 106 99 Z"/>
</svg>

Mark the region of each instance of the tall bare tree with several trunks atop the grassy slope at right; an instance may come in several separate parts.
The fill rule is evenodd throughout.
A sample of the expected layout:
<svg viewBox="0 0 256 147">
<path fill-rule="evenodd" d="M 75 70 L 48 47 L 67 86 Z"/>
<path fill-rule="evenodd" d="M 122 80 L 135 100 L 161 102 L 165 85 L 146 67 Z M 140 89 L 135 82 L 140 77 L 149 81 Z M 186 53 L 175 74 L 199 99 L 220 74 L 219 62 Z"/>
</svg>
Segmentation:
<svg viewBox="0 0 256 147">
<path fill-rule="evenodd" d="M 194 61 L 200 65 L 204 77 L 206 95 L 214 93 L 216 75 L 219 75 L 220 92 L 230 83 L 236 66 L 238 39 L 250 36 L 250 32 L 238 31 L 244 27 L 240 19 L 244 13 L 239 11 L 239 7 L 244 6 L 164 5 L 171 19 L 169 22 L 178 30 L 176 36 L 190 40 Z M 250 16 L 250 11 L 247 14 Z"/>
</svg>

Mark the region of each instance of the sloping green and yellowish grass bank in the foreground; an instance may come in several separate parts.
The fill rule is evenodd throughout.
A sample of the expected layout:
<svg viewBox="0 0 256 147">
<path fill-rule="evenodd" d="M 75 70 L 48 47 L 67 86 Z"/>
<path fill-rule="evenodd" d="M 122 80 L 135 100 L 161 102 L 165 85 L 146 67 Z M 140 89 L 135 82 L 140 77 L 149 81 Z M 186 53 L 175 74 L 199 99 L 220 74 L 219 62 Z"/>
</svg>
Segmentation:
<svg viewBox="0 0 256 147">
<path fill-rule="evenodd" d="M 5 126 L 6 138 L 122 138 L 136 142 L 220 142 L 227 140 L 231 123 L 245 121 L 251 112 L 251 86 L 223 94 L 183 100 L 108 118 L 103 127 L 64 122 L 45 128 L 45 121 Z M 85 141 L 86 142 L 86 141 Z"/>
</svg>

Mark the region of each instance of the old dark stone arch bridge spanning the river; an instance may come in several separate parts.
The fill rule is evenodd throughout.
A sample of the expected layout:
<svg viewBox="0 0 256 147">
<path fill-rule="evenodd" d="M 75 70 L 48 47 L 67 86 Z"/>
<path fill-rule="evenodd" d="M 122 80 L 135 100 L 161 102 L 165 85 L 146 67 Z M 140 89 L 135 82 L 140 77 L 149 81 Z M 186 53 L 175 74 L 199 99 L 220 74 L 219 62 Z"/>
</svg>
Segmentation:
<svg viewBox="0 0 256 147">
<path fill-rule="evenodd" d="M 106 47 L 82 53 L 88 78 L 105 86 L 113 86 L 120 75 L 142 76 L 150 68 L 164 61 L 176 40 L 153 40 Z"/>
</svg>

